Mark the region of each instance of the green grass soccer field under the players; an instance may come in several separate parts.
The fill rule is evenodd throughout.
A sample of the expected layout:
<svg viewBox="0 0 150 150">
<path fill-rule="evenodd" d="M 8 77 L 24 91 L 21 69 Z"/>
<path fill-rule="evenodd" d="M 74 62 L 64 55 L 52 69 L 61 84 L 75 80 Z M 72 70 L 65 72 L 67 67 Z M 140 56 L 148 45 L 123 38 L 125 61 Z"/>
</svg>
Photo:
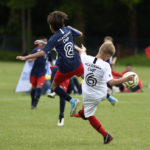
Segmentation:
<svg viewBox="0 0 150 150">
<path fill-rule="evenodd" d="M 114 136 L 108 145 L 88 121 L 69 117 L 68 103 L 65 126 L 57 127 L 58 97 L 50 100 L 42 96 L 38 108 L 31 110 L 30 96 L 14 92 L 22 67 L 23 63 L 0 62 L 0 150 L 150 149 L 149 67 L 134 67 L 143 81 L 143 93 L 118 93 L 115 107 L 107 100 L 98 106 L 96 117 Z"/>
</svg>

